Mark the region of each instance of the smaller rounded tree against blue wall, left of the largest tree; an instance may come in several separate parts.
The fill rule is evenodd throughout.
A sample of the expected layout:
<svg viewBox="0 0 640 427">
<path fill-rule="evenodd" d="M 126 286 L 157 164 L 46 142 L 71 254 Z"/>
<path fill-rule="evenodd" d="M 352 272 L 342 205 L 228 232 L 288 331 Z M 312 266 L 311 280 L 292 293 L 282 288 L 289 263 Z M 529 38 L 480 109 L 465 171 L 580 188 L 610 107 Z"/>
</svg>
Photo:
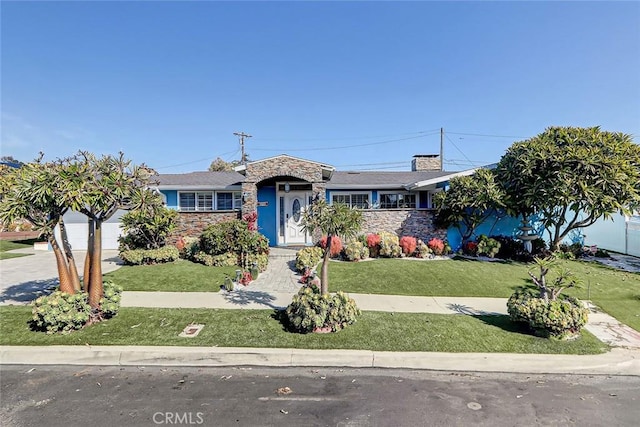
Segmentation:
<svg viewBox="0 0 640 427">
<path fill-rule="evenodd" d="M 473 236 L 480 224 L 505 207 L 502 187 L 489 169 L 451 178 L 447 191 L 436 193 L 434 202 L 438 220 L 457 228 L 463 243 Z"/>
</svg>

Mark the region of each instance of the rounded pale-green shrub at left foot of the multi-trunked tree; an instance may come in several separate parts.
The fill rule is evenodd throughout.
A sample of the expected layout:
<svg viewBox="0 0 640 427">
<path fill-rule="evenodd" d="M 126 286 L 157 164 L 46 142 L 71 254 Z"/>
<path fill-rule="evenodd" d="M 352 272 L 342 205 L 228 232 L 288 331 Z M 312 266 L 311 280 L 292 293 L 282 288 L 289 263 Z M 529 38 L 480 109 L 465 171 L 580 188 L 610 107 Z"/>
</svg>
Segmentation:
<svg viewBox="0 0 640 427">
<path fill-rule="evenodd" d="M 31 303 L 32 326 L 47 334 L 67 334 L 81 329 L 91 316 L 91 306 L 84 293 L 67 294 L 55 291 Z"/>
</svg>

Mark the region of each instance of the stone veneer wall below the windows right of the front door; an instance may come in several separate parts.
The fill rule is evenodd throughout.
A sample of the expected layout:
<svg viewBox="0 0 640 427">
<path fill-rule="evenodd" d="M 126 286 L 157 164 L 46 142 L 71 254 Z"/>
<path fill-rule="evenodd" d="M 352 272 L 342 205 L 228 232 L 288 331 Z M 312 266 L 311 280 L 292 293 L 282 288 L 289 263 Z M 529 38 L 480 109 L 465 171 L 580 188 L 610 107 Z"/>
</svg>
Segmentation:
<svg viewBox="0 0 640 427">
<path fill-rule="evenodd" d="M 362 233 L 388 231 L 398 236 L 415 236 L 427 242 L 433 237 L 447 238 L 447 230 L 435 225 L 431 209 L 371 209 L 362 211 Z"/>
</svg>

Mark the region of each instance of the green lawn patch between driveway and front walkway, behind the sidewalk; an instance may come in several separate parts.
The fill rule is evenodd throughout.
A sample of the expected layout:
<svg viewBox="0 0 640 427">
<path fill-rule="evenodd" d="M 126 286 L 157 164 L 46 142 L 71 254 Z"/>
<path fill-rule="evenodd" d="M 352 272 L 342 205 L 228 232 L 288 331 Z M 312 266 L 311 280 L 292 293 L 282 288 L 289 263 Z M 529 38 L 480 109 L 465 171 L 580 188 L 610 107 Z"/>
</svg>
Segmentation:
<svg viewBox="0 0 640 427">
<path fill-rule="evenodd" d="M 207 267 L 178 260 L 167 264 L 124 266 L 104 275 L 125 291 L 218 292 L 239 267 Z"/>
</svg>

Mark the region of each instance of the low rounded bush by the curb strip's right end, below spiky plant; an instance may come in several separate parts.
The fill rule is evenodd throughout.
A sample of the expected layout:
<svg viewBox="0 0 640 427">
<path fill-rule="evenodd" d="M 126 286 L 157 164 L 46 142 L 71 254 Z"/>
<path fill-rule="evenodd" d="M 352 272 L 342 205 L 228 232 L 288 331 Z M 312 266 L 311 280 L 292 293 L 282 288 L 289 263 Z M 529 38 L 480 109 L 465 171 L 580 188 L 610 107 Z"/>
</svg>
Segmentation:
<svg viewBox="0 0 640 427">
<path fill-rule="evenodd" d="M 516 290 L 507 310 L 513 321 L 526 323 L 537 335 L 560 339 L 579 333 L 589 315 L 577 298 L 561 295 L 545 301 L 530 288 Z"/>
</svg>

